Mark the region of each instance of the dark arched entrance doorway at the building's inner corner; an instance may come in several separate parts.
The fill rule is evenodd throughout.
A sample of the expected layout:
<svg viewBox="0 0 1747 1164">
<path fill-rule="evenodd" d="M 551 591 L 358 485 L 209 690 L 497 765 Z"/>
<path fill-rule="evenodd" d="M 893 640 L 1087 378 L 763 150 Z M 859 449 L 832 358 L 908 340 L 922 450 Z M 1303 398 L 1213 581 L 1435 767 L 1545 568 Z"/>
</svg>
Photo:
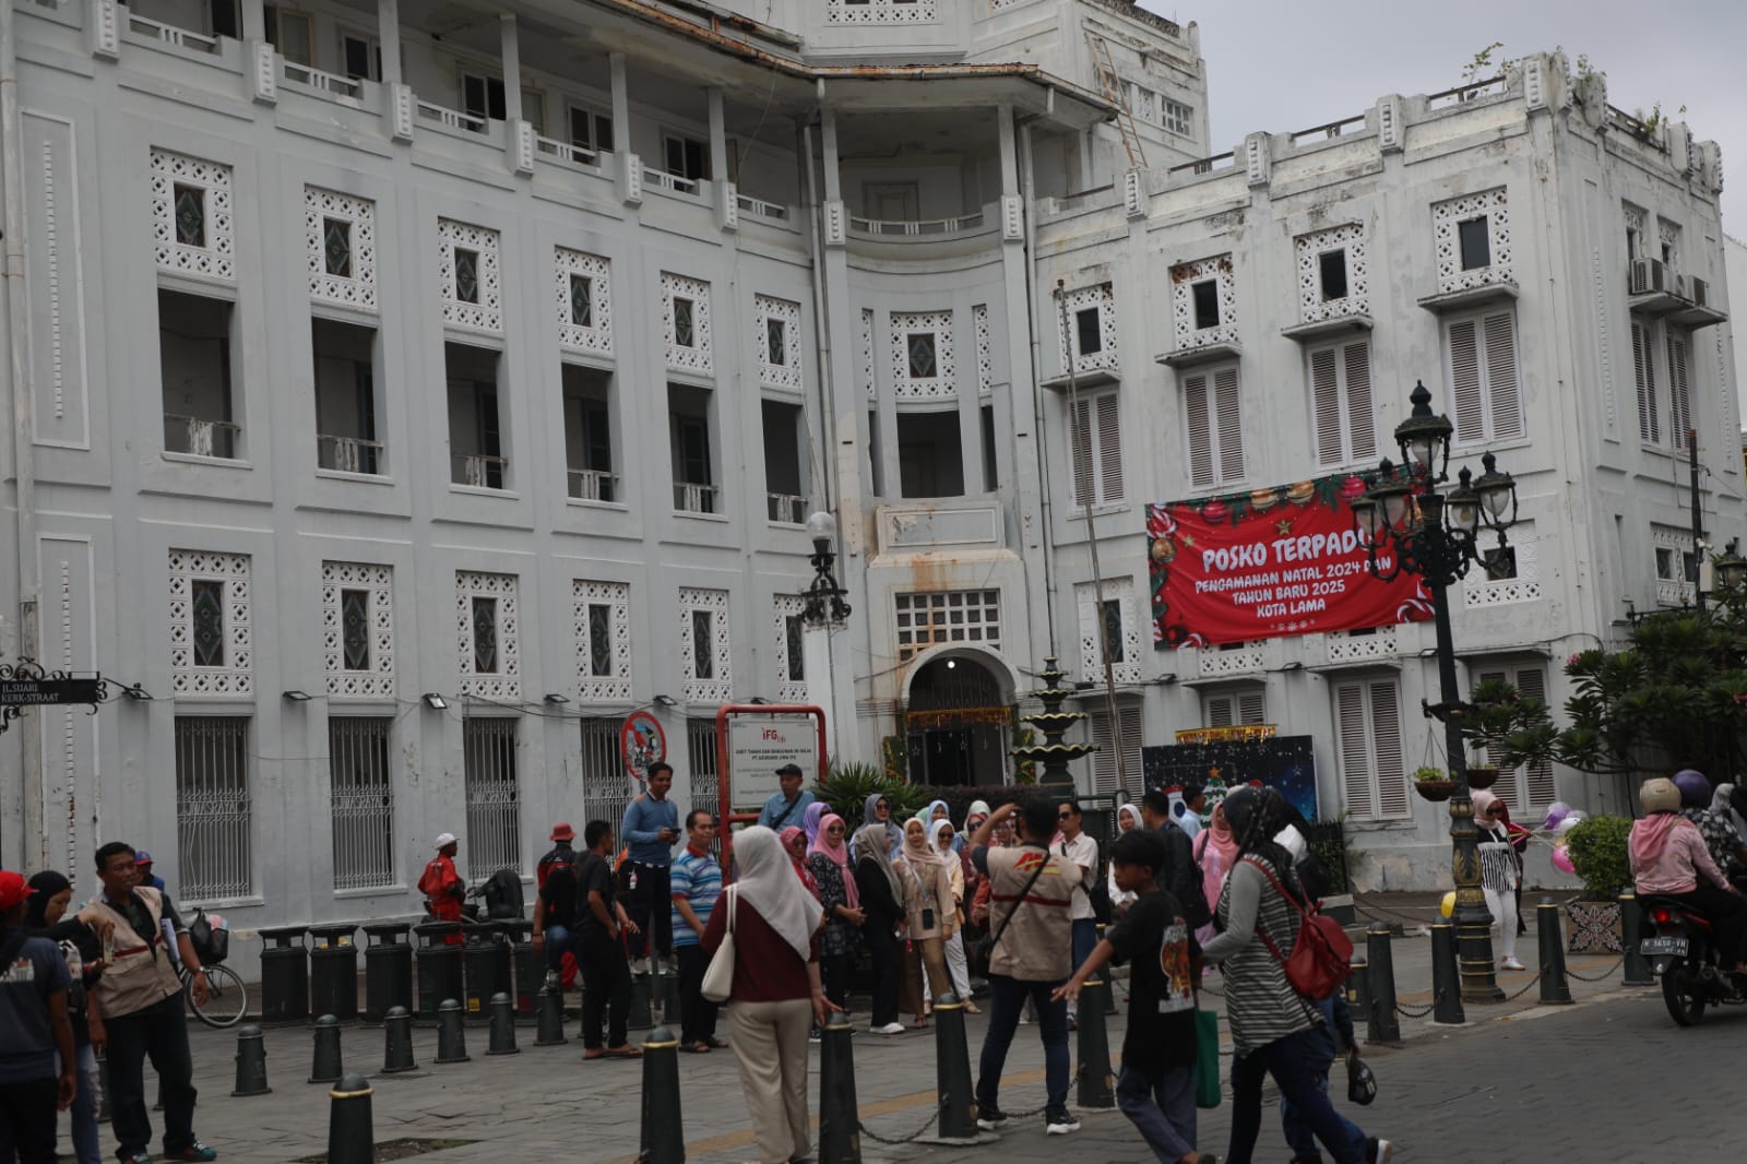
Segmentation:
<svg viewBox="0 0 1747 1164">
<path fill-rule="evenodd" d="M 1013 708 L 980 652 L 936 655 L 910 676 L 905 732 L 917 785 L 1001 785 Z"/>
</svg>

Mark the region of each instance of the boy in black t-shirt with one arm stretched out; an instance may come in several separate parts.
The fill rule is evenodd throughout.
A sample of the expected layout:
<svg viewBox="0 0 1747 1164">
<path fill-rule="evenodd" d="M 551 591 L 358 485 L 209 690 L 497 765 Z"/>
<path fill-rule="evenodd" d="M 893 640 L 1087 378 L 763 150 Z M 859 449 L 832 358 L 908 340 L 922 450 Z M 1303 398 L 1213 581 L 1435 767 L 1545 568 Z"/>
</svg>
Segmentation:
<svg viewBox="0 0 1747 1164">
<path fill-rule="evenodd" d="M 1218 1164 L 1195 1150 L 1195 975 L 1183 907 L 1155 884 L 1169 860 L 1164 839 L 1136 828 L 1109 851 L 1116 888 L 1137 900 L 1097 944 L 1057 998 L 1078 998 L 1085 980 L 1113 958 L 1132 965 L 1129 1033 L 1122 1040 L 1116 1106 L 1160 1164 Z"/>
</svg>

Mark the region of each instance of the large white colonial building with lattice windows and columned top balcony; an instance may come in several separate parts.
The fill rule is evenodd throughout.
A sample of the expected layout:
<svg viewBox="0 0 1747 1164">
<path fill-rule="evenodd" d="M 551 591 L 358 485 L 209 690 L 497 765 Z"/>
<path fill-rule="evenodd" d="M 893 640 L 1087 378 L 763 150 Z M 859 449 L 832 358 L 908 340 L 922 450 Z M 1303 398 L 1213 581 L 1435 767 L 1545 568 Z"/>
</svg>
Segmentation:
<svg viewBox="0 0 1747 1164">
<path fill-rule="evenodd" d="M 243 928 L 409 914 L 437 832 L 477 879 L 617 820 L 629 711 L 713 802 L 755 697 L 992 783 L 1109 617 L 1130 786 L 1270 722 L 1361 879 L 1431 884 L 1429 627 L 1155 650 L 1144 505 L 1370 467 L 1424 381 L 1522 493 L 1466 678 L 1555 703 L 1689 594 L 1688 426 L 1747 526 L 1717 150 L 1558 54 L 1209 156 L 1195 26 L 1125 0 L 0 3 L 0 655 L 136 696 L 0 738 L 7 867 L 122 837 Z"/>
</svg>

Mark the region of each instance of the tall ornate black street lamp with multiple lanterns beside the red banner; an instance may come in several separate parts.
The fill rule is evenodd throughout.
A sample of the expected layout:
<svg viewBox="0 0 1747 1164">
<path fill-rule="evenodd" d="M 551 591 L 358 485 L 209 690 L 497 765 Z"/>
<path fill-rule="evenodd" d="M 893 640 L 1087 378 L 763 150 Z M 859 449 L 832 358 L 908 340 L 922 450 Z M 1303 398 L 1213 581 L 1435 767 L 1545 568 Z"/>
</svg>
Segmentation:
<svg viewBox="0 0 1747 1164">
<path fill-rule="evenodd" d="M 1504 531 L 1516 523 L 1516 482 L 1501 474 L 1490 453 L 1480 458 L 1480 481 L 1467 468 L 1457 474 L 1457 486 L 1440 493 L 1450 479 L 1450 418 L 1433 414 L 1431 393 L 1415 385 L 1413 412 L 1396 425 L 1401 467 L 1387 460 L 1378 465 L 1371 488 L 1352 502 L 1352 524 L 1366 551 L 1371 573 L 1391 582 L 1401 573 L 1417 573 L 1431 591 L 1433 620 L 1438 629 L 1438 685 L 1443 703 L 1427 715 L 1443 720 L 1445 752 L 1455 795 L 1450 797 L 1450 872 L 1455 877 L 1457 968 L 1464 1001 L 1501 1001 L 1492 963 L 1492 914 L 1480 888 L 1480 830 L 1474 827 L 1474 800 L 1467 790 L 1467 759 L 1462 746 L 1466 704 L 1455 687 L 1455 643 L 1450 636 L 1448 587 L 1481 561 L 1480 533 L 1499 535 L 1499 552 L 1506 549 Z"/>
</svg>

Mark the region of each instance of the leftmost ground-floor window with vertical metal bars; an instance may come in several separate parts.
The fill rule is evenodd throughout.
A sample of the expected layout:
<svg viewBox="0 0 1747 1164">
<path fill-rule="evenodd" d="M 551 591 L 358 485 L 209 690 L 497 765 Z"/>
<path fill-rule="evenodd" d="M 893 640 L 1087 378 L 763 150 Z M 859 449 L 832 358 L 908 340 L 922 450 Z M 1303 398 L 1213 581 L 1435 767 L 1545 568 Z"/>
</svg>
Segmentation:
<svg viewBox="0 0 1747 1164">
<path fill-rule="evenodd" d="M 176 893 L 187 904 L 250 897 L 255 811 L 248 717 L 178 715 Z"/>
</svg>

